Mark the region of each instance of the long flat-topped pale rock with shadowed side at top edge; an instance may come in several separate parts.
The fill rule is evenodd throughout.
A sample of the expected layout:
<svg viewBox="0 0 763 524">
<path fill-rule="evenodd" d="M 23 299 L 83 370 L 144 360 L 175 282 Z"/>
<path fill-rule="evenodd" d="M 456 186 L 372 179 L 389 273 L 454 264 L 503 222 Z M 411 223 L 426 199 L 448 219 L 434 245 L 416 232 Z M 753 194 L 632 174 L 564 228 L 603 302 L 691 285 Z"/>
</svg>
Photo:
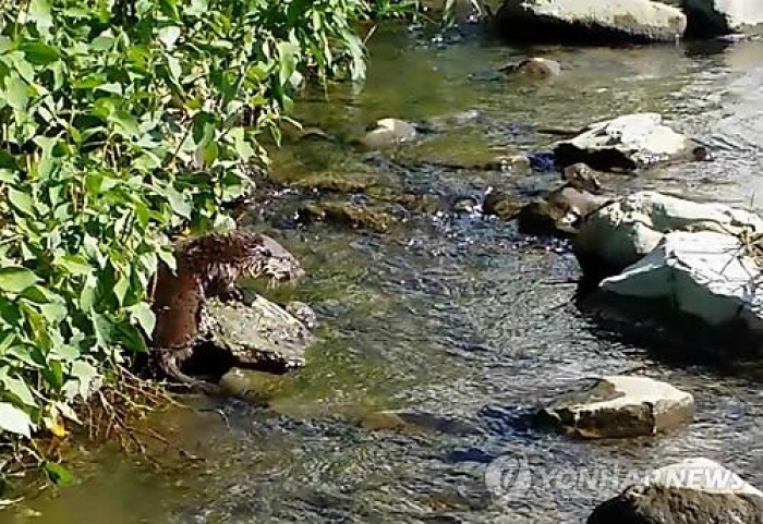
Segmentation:
<svg viewBox="0 0 763 524">
<path fill-rule="evenodd" d="M 677 8 L 649 0 L 505 0 L 494 25 L 520 41 L 675 41 L 686 29 Z"/>
</svg>

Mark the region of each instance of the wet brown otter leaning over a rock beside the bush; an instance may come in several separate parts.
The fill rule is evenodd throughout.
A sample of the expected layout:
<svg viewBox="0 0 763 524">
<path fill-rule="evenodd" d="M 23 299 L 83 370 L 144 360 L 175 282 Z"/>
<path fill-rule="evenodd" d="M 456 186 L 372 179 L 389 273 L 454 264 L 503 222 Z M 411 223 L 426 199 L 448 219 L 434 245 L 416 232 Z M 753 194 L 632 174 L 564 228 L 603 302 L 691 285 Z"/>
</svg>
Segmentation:
<svg viewBox="0 0 763 524">
<path fill-rule="evenodd" d="M 267 277 L 272 283 L 298 280 L 304 271 L 278 242 L 244 231 L 213 233 L 181 242 L 174 257 L 175 271 L 161 264 L 156 277 L 153 343 L 158 365 L 170 378 L 206 392 L 217 392 L 214 385 L 181 369 L 182 363 L 193 353 L 204 301 L 213 296 L 240 298 L 235 281 L 241 277 Z"/>
</svg>

